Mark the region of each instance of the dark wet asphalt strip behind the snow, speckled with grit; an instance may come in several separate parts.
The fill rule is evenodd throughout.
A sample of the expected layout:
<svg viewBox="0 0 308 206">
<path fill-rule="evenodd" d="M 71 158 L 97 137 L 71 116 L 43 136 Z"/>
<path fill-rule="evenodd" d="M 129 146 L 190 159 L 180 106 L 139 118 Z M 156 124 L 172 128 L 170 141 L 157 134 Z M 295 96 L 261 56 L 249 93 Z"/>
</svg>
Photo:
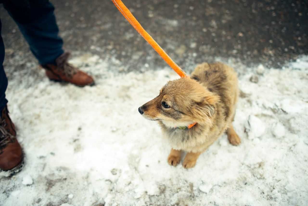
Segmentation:
<svg viewBox="0 0 308 206">
<path fill-rule="evenodd" d="M 111 0 L 52 0 L 64 47 L 121 61 L 124 71 L 167 66 Z M 247 66 L 281 68 L 308 54 L 307 0 L 123 0 L 141 25 L 184 70 L 232 58 Z M 28 45 L 0 6 L 9 58 L 35 62 Z M 18 65 L 19 64 L 19 65 Z M 20 63 L 16 63 L 20 67 Z M 123 69 L 122 69 L 123 70 Z"/>
</svg>

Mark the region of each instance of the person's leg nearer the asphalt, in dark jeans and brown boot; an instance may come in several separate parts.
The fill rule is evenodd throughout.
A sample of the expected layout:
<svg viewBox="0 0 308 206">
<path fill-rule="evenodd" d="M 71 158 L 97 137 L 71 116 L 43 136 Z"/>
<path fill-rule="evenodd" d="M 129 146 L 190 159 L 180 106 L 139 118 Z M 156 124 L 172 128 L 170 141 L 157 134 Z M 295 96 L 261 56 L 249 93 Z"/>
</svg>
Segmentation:
<svg viewBox="0 0 308 206">
<path fill-rule="evenodd" d="M 9 12 L 40 65 L 50 80 L 70 82 L 77 86 L 94 85 L 88 74 L 68 64 L 68 52 L 62 49 L 63 40 L 54 15 L 54 6 L 48 0 L 29 0 L 28 5 L 6 2 Z"/>
</svg>

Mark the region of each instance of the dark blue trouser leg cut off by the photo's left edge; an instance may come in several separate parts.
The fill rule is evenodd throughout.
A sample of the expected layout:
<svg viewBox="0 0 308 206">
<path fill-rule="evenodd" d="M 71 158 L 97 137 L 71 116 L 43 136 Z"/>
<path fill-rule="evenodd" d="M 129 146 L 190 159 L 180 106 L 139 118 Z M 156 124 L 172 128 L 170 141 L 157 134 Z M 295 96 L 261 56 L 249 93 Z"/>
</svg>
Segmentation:
<svg viewBox="0 0 308 206">
<path fill-rule="evenodd" d="M 0 111 L 6 106 L 7 100 L 5 99 L 5 91 L 7 87 L 7 78 L 3 68 L 4 61 L 4 44 L 1 36 L 1 20 L 0 20 Z"/>
</svg>

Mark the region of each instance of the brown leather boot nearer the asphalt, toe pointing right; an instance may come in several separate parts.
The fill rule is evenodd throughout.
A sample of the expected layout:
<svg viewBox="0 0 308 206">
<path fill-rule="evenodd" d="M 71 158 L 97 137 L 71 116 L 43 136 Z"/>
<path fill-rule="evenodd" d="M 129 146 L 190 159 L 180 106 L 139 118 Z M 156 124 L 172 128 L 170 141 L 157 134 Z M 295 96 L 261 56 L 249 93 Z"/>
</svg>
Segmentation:
<svg viewBox="0 0 308 206">
<path fill-rule="evenodd" d="M 56 59 L 56 65 L 41 65 L 44 69 L 46 69 L 47 77 L 53 81 L 70 82 L 77 86 L 94 85 L 94 80 L 91 76 L 67 63 L 69 56 L 69 52 L 64 52 Z"/>
</svg>

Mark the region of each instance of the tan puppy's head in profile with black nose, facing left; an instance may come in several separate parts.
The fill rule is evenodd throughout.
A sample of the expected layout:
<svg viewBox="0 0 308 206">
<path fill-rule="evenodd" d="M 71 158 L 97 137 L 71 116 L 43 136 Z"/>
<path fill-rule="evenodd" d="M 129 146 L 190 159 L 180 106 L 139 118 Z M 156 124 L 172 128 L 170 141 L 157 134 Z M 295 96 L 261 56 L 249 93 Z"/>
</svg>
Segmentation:
<svg viewBox="0 0 308 206">
<path fill-rule="evenodd" d="M 211 122 L 219 97 L 189 77 L 168 82 L 160 94 L 138 108 L 148 120 L 168 127 Z"/>
</svg>

